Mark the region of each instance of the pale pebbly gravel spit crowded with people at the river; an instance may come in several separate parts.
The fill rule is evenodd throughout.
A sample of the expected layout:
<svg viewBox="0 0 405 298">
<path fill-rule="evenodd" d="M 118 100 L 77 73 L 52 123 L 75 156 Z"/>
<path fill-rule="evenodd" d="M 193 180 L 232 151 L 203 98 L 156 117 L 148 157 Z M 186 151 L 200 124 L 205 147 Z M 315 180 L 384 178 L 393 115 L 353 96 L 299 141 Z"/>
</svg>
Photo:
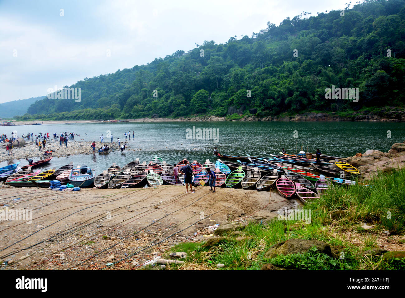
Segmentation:
<svg viewBox="0 0 405 298">
<path fill-rule="evenodd" d="M 113 143 L 106 143 L 108 146 L 111 148 L 111 152 L 114 152 L 116 150 L 119 150 L 118 143 L 113 142 Z M 128 143 L 122 143 L 126 144 L 127 148 L 125 149 L 126 151 L 128 150 L 141 150 L 137 148 L 130 148 L 130 144 Z M 62 146 L 59 144 L 59 140 L 52 140 L 49 139 L 47 141 L 47 144 L 45 145 L 45 150 L 55 150 L 55 152 L 52 152 L 52 157 L 66 157 L 70 155 L 75 155 L 75 154 L 94 154 L 93 149 L 91 148 L 92 142 L 90 141 L 83 141 L 81 139 L 75 139 L 75 140 L 69 140 L 68 141 L 68 148 L 63 144 Z M 97 150 L 100 148 L 101 143 L 96 142 L 96 154 L 98 154 Z M 44 156 L 44 149 L 42 151 L 39 151 L 39 147 L 35 147 L 35 142 L 30 144 L 26 144 L 25 147 L 14 147 L 12 152 L 13 155 L 7 155 L 8 153 L 6 152 L 6 149 L 3 148 L 4 146 L 1 146 L 2 150 L 0 151 L 0 160 L 1 161 L 12 161 L 14 159 L 25 159 L 25 158 L 33 158 L 34 161 L 36 161 L 38 157 L 43 157 Z"/>
</svg>

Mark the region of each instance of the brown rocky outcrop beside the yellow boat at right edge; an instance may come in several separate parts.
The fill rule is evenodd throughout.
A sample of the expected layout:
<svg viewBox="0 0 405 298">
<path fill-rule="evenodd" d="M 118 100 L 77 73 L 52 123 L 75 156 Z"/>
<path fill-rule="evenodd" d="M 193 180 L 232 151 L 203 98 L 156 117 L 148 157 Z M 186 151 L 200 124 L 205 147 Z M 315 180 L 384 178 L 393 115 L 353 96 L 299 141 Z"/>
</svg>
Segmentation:
<svg viewBox="0 0 405 298">
<path fill-rule="evenodd" d="M 405 167 L 405 141 L 395 143 L 388 152 L 367 150 L 362 157 L 348 157 L 343 161 L 358 168 L 365 179 L 377 175 L 378 172 L 389 172 Z"/>
</svg>

